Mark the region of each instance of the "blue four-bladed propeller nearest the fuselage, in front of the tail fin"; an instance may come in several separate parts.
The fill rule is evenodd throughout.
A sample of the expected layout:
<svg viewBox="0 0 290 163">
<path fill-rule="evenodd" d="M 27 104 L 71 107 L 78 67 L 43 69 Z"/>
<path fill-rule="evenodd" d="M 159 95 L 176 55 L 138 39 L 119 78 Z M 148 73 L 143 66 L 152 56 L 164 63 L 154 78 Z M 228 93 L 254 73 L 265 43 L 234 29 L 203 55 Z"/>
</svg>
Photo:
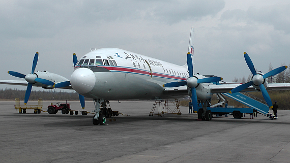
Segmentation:
<svg viewBox="0 0 290 163">
<path fill-rule="evenodd" d="M 188 68 L 189 78 L 186 81 L 166 83 L 163 85 L 163 87 L 179 87 L 179 86 L 187 85 L 191 90 L 191 92 L 189 93 L 190 93 L 192 104 L 193 104 L 193 110 L 197 111 L 198 109 L 197 94 L 196 94 L 195 88 L 198 86 L 198 84 L 218 82 L 222 80 L 222 78 L 209 77 L 209 78 L 197 79 L 196 77 L 193 76 L 192 58 L 193 58 L 193 55 L 190 52 L 188 52 L 187 53 L 187 68 Z"/>
</svg>

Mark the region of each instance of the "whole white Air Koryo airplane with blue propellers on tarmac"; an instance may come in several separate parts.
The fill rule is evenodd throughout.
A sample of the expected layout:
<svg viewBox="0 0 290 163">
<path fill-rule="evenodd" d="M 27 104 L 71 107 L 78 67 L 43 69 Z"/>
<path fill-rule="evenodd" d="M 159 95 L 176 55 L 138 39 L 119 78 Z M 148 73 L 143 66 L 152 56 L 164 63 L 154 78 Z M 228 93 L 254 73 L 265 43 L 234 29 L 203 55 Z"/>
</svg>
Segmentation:
<svg viewBox="0 0 290 163">
<path fill-rule="evenodd" d="M 222 80 L 221 77 L 194 74 L 193 36 L 194 30 L 192 27 L 187 63 L 184 66 L 118 48 L 102 48 L 83 55 L 79 60 L 74 53 L 74 71 L 70 80 L 57 81 L 53 84 L 46 83 L 44 80 L 34 81 L 36 84 L 41 83 L 42 87 L 74 89 L 79 93 L 82 108 L 84 108 L 84 96 L 93 99 L 95 104 L 94 125 L 104 125 L 106 123 L 106 117 L 110 111 L 106 109 L 105 105 L 110 100 L 179 99 L 189 95 L 192 99 L 194 111 L 197 111 L 197 105 L 201 104 L 202 109 L 198 110 L 198 117 L 204 118 L 211 116 L 207 107 L 214 93 L 261 91 L 271 108 L 272 102 L 267 90 L 290 89 L 289 83 L 272 84 L 266 81 L 266 78 L 286 70 L 287 66 L 282 66 L 266 74 L 257 73 L 247 53 L 244 53 L 244 57 L 253 74 L 251 81 L 248 83 L 216 84 Z M 21 77 L 23 78 L 23 76 Z M 42 78 L 49 80 L 48 78 Z M 53 79 L 50 81 L 53 81 Z M 0 80 L 0 83 L 9 84 L 8 81 L 4 83 L 3 80 Z M 28 82 L 28 85 L 31 84 Z"/>
</svg>

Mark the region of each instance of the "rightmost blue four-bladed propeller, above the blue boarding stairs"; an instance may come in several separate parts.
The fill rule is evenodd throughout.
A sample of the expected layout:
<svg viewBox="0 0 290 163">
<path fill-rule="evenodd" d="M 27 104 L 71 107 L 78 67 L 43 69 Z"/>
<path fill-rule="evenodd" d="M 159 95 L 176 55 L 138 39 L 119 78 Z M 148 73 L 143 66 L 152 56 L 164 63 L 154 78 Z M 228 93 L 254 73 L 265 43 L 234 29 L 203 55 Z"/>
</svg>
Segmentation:
<svg viewBox="0 0 290 163">
<path fill-rule="evenodd" d="M 252 85 L 255 85 L 255 86 L 259 86 L 261 92 L 262 92 L 262 95 L 265 99 L 265 101 L 267 102 L 268 106 L 270 108 L 273 108 L 273 104 L 272 104 L 272 101 L 271 101 L 271 98 L 270 98 L 270 95 L 268 94 L 265 86 L 264 86 L 264 80 L 266 78 L 269 78 L 271 76 L 274 76 L 274 75 L 277 75 L 279 73 L 281 73 L 282 71 L 286 70 L 287 69 L 287 66 L 282 66 L 282 67 L 279 67 L 279 68 L 276 68 L 264 75 L 261 75 L 261 74 L 257 74 L 256 73 L 256 70 L 254 68 L 254 64 L 251 60 L 251 58 L 249 57 L 249 55 L 244 52 L 244 57 L 245 57 L 245 60 L 246 60 L 246 63 L 251 71 L 251 73 L 253 74 L 253 78 L 251 81 L 245 83 L 245 84 L 242 84 L 242 85 L 239 85 L 237 86 L 236 88 L 232 89 L 231 91 L 229 91 L 229 93 L 236 93 L 236 92 L 239 92 L 239 91 L 242 91 L 246 88 L 248 88 L 249 86 L 252 86 Z"/>
</svg>

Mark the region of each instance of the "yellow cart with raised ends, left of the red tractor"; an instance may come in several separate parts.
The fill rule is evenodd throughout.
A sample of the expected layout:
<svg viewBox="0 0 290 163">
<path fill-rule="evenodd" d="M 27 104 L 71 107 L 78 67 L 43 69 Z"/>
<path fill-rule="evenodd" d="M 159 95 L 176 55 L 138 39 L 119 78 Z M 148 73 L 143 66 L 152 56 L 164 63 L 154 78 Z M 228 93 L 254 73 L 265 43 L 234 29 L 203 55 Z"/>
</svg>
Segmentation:
<svg viewBox="0 0 290 163">
<path fill-rule="evenodd" d="M 26 109 L 34 109 L 34 114 L 40 114 L 42 111 L 42 99 L 38 99 L 38 105 L 20 105 L 20 100 L 16 98 L 14 108 L 18 109 L 20 114 L 22 112 L 26 113 Z"/>
</svg>

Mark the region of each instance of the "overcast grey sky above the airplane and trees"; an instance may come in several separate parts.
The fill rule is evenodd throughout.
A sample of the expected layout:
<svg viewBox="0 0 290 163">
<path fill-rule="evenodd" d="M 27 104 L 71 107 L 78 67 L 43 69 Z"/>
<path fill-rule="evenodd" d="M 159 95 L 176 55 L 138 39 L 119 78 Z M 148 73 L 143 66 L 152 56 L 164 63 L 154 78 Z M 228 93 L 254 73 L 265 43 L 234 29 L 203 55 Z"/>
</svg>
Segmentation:
<svg viewBox="0 0 290 163">
<path fill-rule="evenodd" d="M 36 70 L 70 79 L 72 55 L 114 47 L 184 65 L 190 29 L 194 73 L 231 82 L 290 63 L 290 1 L 0 1 L 0 79 Z M 0 88 L 26 89 L 0 85 Z M 37 90 L 33 88 L 33 90 Z M 39 89 L 41 90 L 41 89 Z"/>
</svg>

